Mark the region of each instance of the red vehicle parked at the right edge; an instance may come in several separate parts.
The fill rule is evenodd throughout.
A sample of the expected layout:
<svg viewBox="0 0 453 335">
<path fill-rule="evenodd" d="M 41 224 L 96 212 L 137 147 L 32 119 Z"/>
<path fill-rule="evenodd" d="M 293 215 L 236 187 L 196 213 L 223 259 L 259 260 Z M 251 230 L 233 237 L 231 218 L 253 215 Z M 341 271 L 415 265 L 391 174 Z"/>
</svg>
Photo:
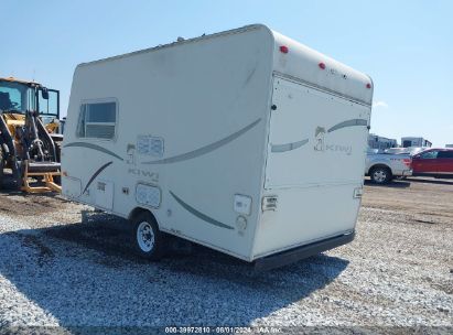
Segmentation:
<svg viewBox="0 0 453 335">
<path fill-rule="evenodd" d="M 412 156 L 412 175 L 453 177 L 453 149 L 429 149 Z"/>
</svg>

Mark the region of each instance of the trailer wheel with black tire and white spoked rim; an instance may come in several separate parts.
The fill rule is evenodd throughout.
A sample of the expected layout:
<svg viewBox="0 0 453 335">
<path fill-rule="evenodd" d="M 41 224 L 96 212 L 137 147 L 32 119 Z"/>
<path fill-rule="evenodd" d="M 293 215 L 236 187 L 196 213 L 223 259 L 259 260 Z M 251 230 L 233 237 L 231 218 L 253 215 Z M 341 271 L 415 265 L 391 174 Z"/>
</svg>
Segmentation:
<svg viewBox="0 0 453 335">
<path fill-rule="evenodd" d="M 148 212 L 142 212 L 132 218 L 132 223 L 136 253 L 145 259 L 159 260 L 162 257 L 163 236 L 154 217 Z"/>
</svg>

